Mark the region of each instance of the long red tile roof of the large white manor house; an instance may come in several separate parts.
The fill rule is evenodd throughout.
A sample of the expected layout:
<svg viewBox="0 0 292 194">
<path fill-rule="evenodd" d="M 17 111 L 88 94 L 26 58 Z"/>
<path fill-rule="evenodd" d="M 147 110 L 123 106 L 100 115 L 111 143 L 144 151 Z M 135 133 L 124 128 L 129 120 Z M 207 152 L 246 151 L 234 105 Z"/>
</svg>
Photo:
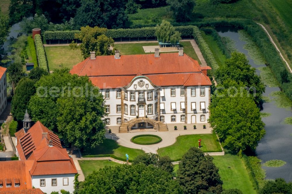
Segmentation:
<svg viewBox="0 0 292 194">
<path fill-rule="evenodd" d="M 122 55 L 120 59 L 112 55 L 96 56 L 73 66 L 70 73 L 87 75 L 95 86 L 105 89 L 124 87 L 139 75 L 148 77 L 158 86 L 211 85 L 210 79 L 204 75 L 208 69 L 211 68 L 201 67 L 198 61 L 186 54 L 161 53 L 159 57 L 139 54 Z M 188 79 L 191 81 L 186 82 Z"/>
</svg>

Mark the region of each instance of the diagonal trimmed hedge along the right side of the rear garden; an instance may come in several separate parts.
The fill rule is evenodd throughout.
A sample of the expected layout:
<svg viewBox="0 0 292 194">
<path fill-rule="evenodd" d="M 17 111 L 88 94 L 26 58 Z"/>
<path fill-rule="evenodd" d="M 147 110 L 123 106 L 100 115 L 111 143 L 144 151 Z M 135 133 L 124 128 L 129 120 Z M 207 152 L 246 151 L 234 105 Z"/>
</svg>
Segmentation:
<svg viewBox="0 0 292 194">
<path fill-rule="evenodd" d="M 210 66 L 212 68 L 212 71 L 216 71 L 219 66 L 218 66 L 217 61 L 215 60 L 208 44 L 205 42 L 204 38 L 202 37 L 199 28 L 194 26 L 193 33 L 194 33 L 193 34 L 194 39 L 196 40 L 206 63 L 208 64 L 208 66 Z"/>
</svg>

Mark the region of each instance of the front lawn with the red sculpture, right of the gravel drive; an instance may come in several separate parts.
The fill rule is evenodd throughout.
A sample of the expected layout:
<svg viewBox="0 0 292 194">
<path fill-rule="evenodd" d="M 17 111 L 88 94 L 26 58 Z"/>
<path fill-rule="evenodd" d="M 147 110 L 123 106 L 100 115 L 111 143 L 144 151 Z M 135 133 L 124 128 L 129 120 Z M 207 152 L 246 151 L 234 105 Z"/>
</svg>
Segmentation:
<svg viewBox="0 0 292 194">
<path fill-rule="evenodd" d="M 191 147 L 198 147 L 201 139 L 201 150 L 203 152 L 220 152 L 221 147 L 215 134 L 181 135 L 171 146 L 160 148 L 157 153 L 160 156 L 169 156 L 172 161 L 180 161 Z"/>
</svg>

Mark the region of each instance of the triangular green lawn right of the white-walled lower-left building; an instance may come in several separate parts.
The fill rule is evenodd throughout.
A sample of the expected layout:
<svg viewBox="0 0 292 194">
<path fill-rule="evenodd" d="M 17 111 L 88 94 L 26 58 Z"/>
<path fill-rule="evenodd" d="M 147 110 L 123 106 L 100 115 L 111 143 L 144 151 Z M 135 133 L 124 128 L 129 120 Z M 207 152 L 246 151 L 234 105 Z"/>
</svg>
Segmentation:
<svg viewBox="0 0 292 194">
<path fill-rule="evenodd" d="M 108 160 L 79 160 L 78 163 L 85 177 L 92 173 L 93 170 L 98 171 L 100 168 L 105 166 L 122 165 Z"/>
</svg>

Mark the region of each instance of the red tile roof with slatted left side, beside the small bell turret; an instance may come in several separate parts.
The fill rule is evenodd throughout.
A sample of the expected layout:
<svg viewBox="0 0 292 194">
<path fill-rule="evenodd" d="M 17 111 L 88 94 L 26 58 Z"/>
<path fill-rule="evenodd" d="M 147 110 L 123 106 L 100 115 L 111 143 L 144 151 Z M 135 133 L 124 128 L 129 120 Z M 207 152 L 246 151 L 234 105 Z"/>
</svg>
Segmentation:
<svg viewBox="0 0 292 194">
<path fill-rule="evenodd" d="M 50 140 L 53 142 L 52 146 L 49 146 Z M 20 159 L 34 162 L 29 169 L 31 175 L 77 173 L 73 160 L 66 149 L 62 148 L 58 135 L 41 122 L 37 121 L 19 141 L 16 149 Z"/>
</svg>

